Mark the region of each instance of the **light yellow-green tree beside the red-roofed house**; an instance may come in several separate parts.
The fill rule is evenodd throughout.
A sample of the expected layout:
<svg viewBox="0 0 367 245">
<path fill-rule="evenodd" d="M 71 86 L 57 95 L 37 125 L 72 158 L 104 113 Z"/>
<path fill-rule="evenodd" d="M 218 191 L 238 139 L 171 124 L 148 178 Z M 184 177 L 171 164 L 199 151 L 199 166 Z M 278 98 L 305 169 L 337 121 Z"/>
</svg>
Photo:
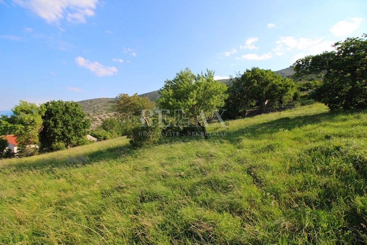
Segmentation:
<svg viewBox="0 0 367 245">
<path fill-rule="evenodd" d="M 20 101 L 12 109 L 10 117 L 3 116 L 0 119 L 2 134 L 14 134 L 19 143 L 19 155 L 30 156 L 37 152 L 39 144 L 39 132 L 42 130 L 42 115 L 44 107 L 38 107 L 34 103 Z"/>
</svg>

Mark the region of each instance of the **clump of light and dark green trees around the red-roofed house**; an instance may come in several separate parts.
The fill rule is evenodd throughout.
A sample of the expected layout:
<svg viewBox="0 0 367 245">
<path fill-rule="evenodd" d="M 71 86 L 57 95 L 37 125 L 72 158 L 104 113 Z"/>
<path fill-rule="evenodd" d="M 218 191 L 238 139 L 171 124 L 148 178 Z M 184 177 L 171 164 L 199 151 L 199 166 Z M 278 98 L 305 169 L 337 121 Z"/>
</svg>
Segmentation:
<svg viewBox="0 0 367 245">
<path fill-rule="evenodd" d="M 38 152 L 50 152 L 87 144 L 86 135 L 90 120 L 81 106 L 73 101 L 48 101 L 37 106 L 20 101 L 12 109 L 11 116 L 1 116 L 1 135 L 17 137 L 18 156 L 31 156 Z M 11 157 L 5 151 L 6 139 L 1 139 L 0 154 Z M 5 147 L 4 147 L 5 146 Z"/>
</svg>

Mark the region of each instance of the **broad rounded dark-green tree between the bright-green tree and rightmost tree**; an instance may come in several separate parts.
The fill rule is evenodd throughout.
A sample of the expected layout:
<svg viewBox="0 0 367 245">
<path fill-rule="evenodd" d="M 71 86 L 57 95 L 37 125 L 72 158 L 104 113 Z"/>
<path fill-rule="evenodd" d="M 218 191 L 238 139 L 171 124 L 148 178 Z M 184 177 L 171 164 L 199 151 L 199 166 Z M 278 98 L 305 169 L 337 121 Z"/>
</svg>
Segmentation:
<svg viewBox="0 0 367 245">
<path fill-rule="evenodd" d="M 268 104 L 277 107 L 291 101 L 296 91 L 296 85 L 291 79 L 282 78 L 271 70 L 253 67 L 233 79 L 226 106 L 232 117 L 243 115 L 247 107 L 255 105 L 259 106 L 262 113 Z"/>
</svg>

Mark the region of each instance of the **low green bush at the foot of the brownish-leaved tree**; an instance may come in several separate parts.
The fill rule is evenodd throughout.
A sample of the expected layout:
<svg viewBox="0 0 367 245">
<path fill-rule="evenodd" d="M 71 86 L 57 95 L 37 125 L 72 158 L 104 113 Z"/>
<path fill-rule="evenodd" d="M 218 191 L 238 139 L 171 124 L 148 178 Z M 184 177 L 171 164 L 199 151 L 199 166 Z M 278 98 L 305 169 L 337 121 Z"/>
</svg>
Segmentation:
<svg viewBox="0 0 367 245">
<path fill-rule="evenodd" d="M 156 144 L 162 137 L 161 127 L 134 127 L 127 138 L 130 138 L 130 144 L 134 147 Z"/>
</svg>

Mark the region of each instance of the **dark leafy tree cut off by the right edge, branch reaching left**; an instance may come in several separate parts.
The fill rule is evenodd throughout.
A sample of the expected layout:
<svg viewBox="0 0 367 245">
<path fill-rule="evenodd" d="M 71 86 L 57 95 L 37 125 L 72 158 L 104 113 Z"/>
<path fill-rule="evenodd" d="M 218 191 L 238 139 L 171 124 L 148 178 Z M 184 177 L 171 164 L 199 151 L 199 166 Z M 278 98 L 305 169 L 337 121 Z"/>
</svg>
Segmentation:
<svg viewBox="0 0 367 245">
<path fill-rule="evenodd" d="M 296 76 L 326 72 L 313 97 L 330 110 L 367 108 L 367 34 L 333 44 L 335 50 L 293 64 Z"/>
</svg>

